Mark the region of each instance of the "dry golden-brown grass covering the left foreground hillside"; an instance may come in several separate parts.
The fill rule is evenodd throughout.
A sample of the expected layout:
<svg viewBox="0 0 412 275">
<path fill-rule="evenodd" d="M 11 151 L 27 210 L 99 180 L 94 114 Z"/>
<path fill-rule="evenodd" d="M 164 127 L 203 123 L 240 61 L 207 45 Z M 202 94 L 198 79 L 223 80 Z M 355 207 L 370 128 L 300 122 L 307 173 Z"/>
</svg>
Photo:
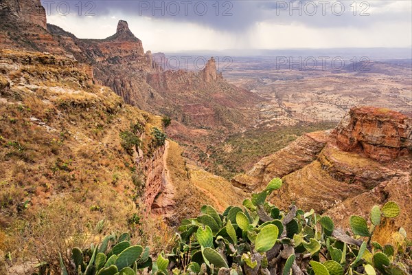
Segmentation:
<svg viewBox="0 0 412 275">
<path fill-rule="evenodd" d="M 34 64 L 0 76 L 14 83 L 0 101 L 0 250 L 11 253 L 14 266 L 58 266 L 58 252 L 67 260 L 69 248 L 114 231 L 155 248 L 170 239 L 159 221 L 130 223 L 134 214 L 144 217 L 141 190 L 119 137 L 131 122 L 151 118 L 160 128 L 161 118 L 90 85 L 76 68 Z M 102 219 L 104 230 L 95 232 Z"/>
</svg>

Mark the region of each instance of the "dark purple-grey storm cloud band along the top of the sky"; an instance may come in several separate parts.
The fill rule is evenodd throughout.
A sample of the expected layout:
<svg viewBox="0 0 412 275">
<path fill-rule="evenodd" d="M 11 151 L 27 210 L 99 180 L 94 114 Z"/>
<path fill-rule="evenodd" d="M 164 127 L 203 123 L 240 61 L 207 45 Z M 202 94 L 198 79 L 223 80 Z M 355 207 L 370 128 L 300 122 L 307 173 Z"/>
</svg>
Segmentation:
<svg viewBox="0 0 412 275">
<path fill-rule="evenodd" d="M 196 23 L 208 28 L 243 32 L 255 23 L 269 21 L 290 25 L 302 23 L 316 28 L 356 26 L 366 28 L 382 20 L 408 20 L 410 11 L 374 14 L 374 8 L 388 1 L 47 1 L 42 0 L 49 14 L 65 16 L 67 10 L 78 16 L 151 17 L 169 21 Z M 353 3 L 358 3 L 355 8 Z M 69 7 L 69 8 L 68 8 Z M 409 19 L 410 20 L 410 19 Z"/>
</svg>

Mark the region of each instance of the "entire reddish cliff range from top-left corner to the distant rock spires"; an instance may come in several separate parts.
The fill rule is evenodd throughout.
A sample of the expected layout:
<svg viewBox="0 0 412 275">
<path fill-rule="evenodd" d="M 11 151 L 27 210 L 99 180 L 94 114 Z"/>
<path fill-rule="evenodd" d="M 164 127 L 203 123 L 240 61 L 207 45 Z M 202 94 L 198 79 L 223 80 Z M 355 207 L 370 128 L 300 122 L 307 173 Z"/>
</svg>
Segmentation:
<svg viewBox="0 0 412 275">
<path fill-rule="evenodd" d="M 163 72 L 158 65 L 161 54 L 145 53 L 126 21 L 120 20 L 115 34 L 106 39 L 78 39 L 55 25 L 47 24 L 46 29 L 40 0 L 1 0 L 0 12 L 1 47 L 73 56 L 92 66 L 97 83 L 140 109 L 170 115 L 194 128 L 240 130 L 253 123 L 244 106 L 260 98 L 227 83 L 216 72 L 213 58 L 201 72 Z"/>
</svg>

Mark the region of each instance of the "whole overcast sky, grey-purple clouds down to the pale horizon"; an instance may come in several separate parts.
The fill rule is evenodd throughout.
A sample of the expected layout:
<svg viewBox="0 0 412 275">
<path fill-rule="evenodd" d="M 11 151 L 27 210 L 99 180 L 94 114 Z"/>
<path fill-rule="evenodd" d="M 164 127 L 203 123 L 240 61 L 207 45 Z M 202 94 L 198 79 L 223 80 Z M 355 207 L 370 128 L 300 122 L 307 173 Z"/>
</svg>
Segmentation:
<svg viewBox="0 0 412 275">
<path fill-rule="evenodd" d="M 104 39 L 119 19 L 145 50 L 412 47 L 412 1 L 48 1 L 47 22 Z M 81 3 L 81 5 L 79 5 Z"/>
</svg>

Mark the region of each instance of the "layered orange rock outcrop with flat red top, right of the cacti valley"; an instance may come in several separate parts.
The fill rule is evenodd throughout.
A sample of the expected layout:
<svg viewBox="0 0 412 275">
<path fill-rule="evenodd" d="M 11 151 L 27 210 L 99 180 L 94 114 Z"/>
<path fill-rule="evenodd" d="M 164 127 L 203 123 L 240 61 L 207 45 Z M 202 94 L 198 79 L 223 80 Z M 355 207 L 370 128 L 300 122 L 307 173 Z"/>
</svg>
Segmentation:
<svg viewBox="0 0 412 275">
<path fill-rule="evenodd" d="M 284 187 L 273 197 L 328 212 L 341 225 L 374 204 L 400 203 L 398 219 L 411 232 L 412 119 L 396 111 L 355 107 L 333 131 L 309 133 L 265 157 L 232 184 L 260 190 L 273 177 Z"/>
</svg>

